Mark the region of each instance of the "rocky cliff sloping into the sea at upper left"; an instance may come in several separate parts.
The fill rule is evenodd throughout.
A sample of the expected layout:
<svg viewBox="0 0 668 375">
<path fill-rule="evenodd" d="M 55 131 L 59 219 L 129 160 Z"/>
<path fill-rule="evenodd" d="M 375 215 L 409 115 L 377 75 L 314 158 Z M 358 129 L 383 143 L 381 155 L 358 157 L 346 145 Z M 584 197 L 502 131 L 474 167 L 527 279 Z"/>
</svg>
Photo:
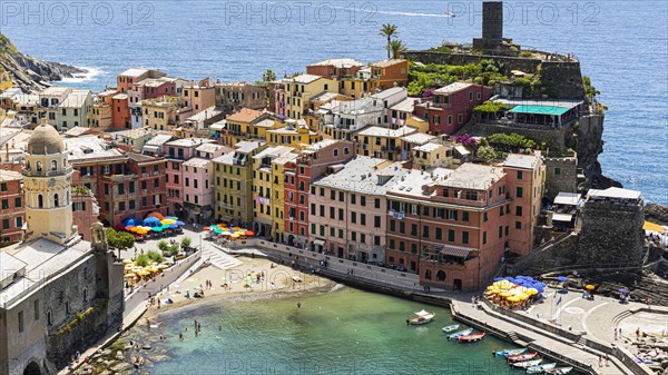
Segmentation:
<svg viewBox="0 0 668 375">
<path fill-rule="evenodd" d="M 58 62 L 40 60 L 19 52 L 16 46 L 0 33 L 0 71 L 12 75 L 14 86 L 24 91 L 48 87 L 49 81 L 84 75 L 84 69 Z"/>
</svg>

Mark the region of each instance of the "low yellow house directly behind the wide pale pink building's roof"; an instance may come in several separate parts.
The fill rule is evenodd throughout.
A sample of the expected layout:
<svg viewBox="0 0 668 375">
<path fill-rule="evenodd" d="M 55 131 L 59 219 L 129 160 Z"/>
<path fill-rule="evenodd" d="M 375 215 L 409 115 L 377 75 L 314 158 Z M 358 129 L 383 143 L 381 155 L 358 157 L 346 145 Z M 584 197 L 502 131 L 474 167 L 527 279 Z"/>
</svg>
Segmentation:
<svg viewBox="0 0 668 375">
<path fill-rule="evenodd" d="M 414 132 L 418 132 L 418 129 L 405 126 L 399 129 L 366 127 L 355 134 L 357 155 L 395 161 L 405 160 L 407 155 L 402 155 L 401 138 Z"/>
</svg>

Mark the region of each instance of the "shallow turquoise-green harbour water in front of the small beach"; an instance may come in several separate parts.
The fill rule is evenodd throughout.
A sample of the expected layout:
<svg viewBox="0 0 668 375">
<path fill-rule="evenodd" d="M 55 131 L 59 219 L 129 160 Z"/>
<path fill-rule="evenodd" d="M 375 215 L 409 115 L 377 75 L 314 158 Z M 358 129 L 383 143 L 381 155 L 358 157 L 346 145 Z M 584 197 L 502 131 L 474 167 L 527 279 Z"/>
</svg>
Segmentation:
<svg viewBox="0 0 668 375">
<path fill-rule="evenodd" d="M 422 308 L 436 313 L 434 322 L 407 326 L 405 319 Z M 202 324 L 198 337 L 194 319 Z M 491 355 L 510 344 L 492 336 L 474 344 L 448 342 L 441 330 L 453 324 L 448 309 L 353 288 L 301 299 L 223 302 L 151 323 L 159 324 L 153 336 L 169 337 L 154 343 L 166 347 L 169 359 L 144 368 L 151 375 L 521 374 Z"/>
</svg>

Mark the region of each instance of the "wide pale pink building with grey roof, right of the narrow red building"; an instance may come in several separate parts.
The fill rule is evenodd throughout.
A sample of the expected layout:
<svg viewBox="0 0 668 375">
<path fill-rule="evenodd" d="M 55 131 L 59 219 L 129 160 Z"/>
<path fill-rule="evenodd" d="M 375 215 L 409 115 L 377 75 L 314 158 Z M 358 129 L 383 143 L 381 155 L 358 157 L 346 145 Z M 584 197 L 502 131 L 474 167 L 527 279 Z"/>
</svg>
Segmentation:
<svg viewBox="0 0 668 375">
<path fill-rule="evenodd" d="M 410 170 L 401 162 L 357 156 L 311 186 L 313 249 L 362 263 L 384 261 L 391 188 Z"/>
</svg>

